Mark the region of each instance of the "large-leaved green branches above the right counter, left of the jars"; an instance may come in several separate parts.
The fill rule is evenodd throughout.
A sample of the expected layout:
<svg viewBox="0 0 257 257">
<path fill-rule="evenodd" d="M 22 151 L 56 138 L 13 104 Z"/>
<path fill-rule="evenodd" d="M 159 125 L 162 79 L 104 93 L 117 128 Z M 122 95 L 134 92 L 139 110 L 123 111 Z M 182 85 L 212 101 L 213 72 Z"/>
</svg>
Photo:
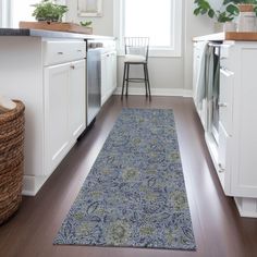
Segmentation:
<svg viewBox="0 0 257 257">
<path fill-rule="evenodd" d="M 231 22 L 240 13 L 237 5 L 230 0 L 224 0 L 220 10 L 215 10 L 207 0 L 195 0 L 195 4 L 194 14 L 196 16 L 207 14 L 220 23 Z"/>
</svg>

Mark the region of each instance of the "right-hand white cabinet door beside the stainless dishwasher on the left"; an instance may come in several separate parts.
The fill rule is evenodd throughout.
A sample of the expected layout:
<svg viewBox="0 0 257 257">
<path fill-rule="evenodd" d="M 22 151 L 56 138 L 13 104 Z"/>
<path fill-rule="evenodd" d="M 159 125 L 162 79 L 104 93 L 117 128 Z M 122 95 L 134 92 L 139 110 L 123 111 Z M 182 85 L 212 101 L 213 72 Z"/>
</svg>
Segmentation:
<svg viewBox="0 0 257 257">
<path fill-rule="evenodd" d="M 75 142 L 86 124 L 85 60 L 70 64 L 69 125 L 71 142 Z"/>
</svg>

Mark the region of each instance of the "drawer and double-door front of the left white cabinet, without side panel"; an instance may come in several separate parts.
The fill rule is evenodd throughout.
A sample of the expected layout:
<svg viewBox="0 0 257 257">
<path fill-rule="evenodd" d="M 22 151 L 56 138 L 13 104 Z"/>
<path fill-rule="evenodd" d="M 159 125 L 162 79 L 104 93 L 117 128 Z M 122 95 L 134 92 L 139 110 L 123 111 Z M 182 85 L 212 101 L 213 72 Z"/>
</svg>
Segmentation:
<svg viewBox="0 0 257 257">
<path fill-rule="evenodd" d="M 53 172 L 86 126 L 83 47 L 76 41 L 45 42 L 45 175 Z"/>
</svg>

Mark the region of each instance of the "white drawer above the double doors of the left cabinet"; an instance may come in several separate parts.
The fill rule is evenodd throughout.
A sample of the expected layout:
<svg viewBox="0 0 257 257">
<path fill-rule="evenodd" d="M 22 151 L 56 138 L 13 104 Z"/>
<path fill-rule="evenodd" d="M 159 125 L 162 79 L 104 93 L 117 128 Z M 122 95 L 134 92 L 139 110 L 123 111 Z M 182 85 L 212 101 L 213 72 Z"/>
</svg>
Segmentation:
<svg viewBox="0 0 257 257">
<path fill-rule="evenodd" d="M 44 41 L 44 64 L 53 65 L 86 57 L 85 41 Z"/>
</svg>

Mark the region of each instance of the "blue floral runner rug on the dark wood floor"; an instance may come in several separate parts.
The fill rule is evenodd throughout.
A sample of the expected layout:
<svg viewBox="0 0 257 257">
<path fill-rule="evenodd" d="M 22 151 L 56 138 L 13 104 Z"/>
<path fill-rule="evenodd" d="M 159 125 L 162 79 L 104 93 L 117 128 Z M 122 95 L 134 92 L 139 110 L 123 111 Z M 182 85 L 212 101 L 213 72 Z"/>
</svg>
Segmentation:
<svg viewBox="0 0 257 257">
<path fill-rule="evenodd" d="M 122 110 L 54 244 L 196 249 L 172 110 Z"/>
</svg>

